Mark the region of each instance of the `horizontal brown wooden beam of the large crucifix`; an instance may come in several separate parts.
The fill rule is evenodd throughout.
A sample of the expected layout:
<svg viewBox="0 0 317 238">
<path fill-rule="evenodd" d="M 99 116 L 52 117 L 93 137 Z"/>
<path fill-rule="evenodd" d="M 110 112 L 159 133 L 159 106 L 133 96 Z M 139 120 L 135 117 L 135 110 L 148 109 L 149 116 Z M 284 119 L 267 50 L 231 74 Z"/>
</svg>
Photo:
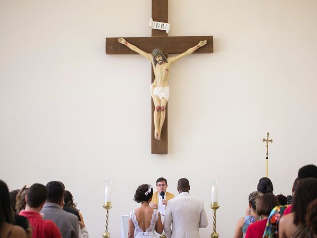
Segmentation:
<svg viewBox="0 0 317 238">
<path fill-rule="evenodd" d="M 207 40 L 208 44 L 199 48 L 194 54 L 212 53 L 212 36 L 151 36 L 151 37 L 125 37 L 129 43 L 145 52 L 152 52 L 153 46 L 159 48 L 164 54 L 180 54 L 197 45 L 197 42 Z M 177 43 L 177 44 L 175 44 Z M 118 44 L 118 37 L 106 38 L 107 55 L 133 55 L 137 54 L 122 44 Z"/>
</svg>

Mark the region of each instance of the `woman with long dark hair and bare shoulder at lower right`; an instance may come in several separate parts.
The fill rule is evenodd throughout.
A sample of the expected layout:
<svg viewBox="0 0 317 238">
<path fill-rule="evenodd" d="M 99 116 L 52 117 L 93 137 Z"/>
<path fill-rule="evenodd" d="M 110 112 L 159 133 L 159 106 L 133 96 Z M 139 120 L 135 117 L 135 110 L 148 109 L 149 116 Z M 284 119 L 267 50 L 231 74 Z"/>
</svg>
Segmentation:
<svg viewBox="0 0 317 238">
<path fill-rule="evenodd" d="M 309 238 L 305 216 L 307 206 L 317 198 L 317 179 L 300 179 L 295 190 L 292 212 L 284 215 L 279 222 L 279 238 Z"/>
</svg>

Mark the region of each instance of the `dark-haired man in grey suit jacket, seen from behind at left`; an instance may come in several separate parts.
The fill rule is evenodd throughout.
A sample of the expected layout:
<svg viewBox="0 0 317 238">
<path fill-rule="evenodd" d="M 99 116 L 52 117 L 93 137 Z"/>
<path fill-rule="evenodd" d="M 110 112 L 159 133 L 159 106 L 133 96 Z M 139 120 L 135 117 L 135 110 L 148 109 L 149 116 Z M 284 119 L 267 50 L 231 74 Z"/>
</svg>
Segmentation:
<svg viewBox="0 0 317 238">
<path fill-rule="evenodd" d="M 59 181 L 51 181 L 46 184 L 48 197 L 41 213 L 44 213 L 45 220 L 52 220 L 63 238 L 79 238 L 78 218 L 69 212 L 62 210 L 64 186 Z"/>
</svg>

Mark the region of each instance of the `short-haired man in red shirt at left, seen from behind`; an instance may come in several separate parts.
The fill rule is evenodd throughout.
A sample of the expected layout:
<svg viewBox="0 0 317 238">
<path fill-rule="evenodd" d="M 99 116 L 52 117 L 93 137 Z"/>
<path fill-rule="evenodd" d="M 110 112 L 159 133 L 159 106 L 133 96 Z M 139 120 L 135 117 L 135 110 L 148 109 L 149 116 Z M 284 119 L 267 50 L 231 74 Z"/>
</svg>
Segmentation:
<svg viewBox="0 0 317 238">
<path fill-rule="evenodd" d="M 50 220 L 43 220 L 39 213 L 45 204 L 47 196 L 48 189 L 39 183 L 34 183 L 25 196 L 25 210 L 22 210 L 20 215 L 29 219 L 33 227 L 33 238 L 61 238 L 55 223 Z"/>
</svg>

